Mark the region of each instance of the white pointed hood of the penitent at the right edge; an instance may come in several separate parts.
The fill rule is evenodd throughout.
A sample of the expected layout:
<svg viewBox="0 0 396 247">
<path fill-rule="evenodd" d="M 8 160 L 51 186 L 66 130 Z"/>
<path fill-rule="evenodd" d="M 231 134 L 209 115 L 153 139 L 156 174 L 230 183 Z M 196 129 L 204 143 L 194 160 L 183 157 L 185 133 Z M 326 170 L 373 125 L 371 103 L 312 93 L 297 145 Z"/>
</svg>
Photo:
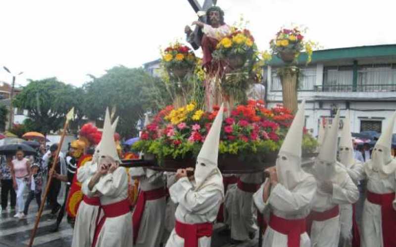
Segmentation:
<svg viewBox="0 0 396 247">
<path fill-rule="evenodd" d="M 381 133 L 376 142 L 371 160 L 364 166 L 367 174 L 371 172 L 380 172 L 383 175 L 389 175 L 396 170 L 396 160 L 392 157 L 392 134 L 396 121 L 396 111 L 391 117 L 388 126 Z"/>
</svg>

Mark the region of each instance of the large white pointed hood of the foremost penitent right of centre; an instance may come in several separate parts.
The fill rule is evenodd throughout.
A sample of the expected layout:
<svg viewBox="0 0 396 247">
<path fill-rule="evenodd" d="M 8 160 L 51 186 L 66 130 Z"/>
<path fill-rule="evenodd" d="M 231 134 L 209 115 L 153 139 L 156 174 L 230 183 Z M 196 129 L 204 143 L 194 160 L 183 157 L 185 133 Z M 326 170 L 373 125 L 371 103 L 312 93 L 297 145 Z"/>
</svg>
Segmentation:
<svg viewBox="0 0 396 247">
<path fill-rule="evenodd" d="M 305 119 L 304 107 L 305 100 L 302 101 L 298 108 L 276 160 L 276 173 L 279 182 L 289 190 L 292 190 L 308 176 L 301 168 L 301 145 Z"/>
</svg>

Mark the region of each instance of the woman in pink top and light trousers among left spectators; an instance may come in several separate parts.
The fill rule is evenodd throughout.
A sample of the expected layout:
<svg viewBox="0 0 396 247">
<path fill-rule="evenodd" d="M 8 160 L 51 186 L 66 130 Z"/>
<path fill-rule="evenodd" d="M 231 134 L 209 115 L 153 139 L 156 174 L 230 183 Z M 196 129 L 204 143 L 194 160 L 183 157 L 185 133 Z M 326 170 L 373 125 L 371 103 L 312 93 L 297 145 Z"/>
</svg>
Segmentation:
<svg viewBox="0 0 396 247">
<path fill-rule="evenodd" d="M 25 154 L 22 149 L 16 151 L 16 159 L 12 161 L 12 180 L 13 187 L 16 190 L 16 218 L 24 218 L 23 207 L 25 203 L 23 202 L 23 192 L 25 191 L 26 182 L 30 177 L 30 161 L 25 158 Z"/>
</svg>

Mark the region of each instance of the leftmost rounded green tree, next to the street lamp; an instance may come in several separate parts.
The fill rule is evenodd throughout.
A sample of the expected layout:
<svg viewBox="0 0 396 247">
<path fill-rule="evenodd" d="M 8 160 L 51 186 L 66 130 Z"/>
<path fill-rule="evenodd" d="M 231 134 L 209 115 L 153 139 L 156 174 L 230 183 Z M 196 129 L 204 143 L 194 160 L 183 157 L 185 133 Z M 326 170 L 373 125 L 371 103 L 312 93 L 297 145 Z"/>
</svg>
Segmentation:
<svg viewBox="0 0 396 247">
<path fill-rule="evenodd" d="M 56 78 L 30 80 L 15 97 L 13 104 L 29 111 L 28 117 L 32 120 L 29 127 L 47 134 L 61 128 L 65 114 L 73 106 L 79 106 L 76 91 L 76 87 L 59 82 Z"/>
</svg>

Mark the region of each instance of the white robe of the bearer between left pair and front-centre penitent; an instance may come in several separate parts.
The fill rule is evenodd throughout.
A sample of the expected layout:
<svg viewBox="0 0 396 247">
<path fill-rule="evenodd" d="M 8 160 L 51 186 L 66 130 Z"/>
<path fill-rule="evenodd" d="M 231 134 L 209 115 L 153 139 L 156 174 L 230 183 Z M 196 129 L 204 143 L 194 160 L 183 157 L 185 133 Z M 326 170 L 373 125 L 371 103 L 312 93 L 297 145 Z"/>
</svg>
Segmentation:
<svg viewBox="0 0 396 247">
<path fill-rule="evenodd" d="M 165 187 L 162 172 L 131 167 L 129 173 L 132 178 L 139 177 L 139 186 L 143 191 Z M 165 197 L 146 201 L 135 247 L 159 247 L 165 224 L 165 206 Z"/>
</svg>

